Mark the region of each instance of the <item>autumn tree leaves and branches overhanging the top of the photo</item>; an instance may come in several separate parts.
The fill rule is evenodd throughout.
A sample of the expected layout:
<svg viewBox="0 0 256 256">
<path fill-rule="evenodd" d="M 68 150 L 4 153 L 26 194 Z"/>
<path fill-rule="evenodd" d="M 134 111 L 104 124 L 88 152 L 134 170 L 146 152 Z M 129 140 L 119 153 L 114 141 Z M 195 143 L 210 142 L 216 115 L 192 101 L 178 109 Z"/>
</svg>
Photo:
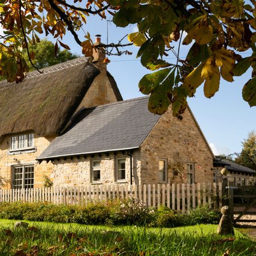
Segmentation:
<svg viewBox="0 0 256 256">
<path fill-rule="evenodd" d="M 119 27 L 138 24 L 138 32 L 128 40 L 139 47 L 138 57 L 150 74 L 139 82 L 139 89 L 150 94 L 148 108 L 162 114 L 172 104 L 180 117 L 187 106 L 187 97 L 204 84 L 205 97 L 218 91 L 220 79 L 232 82 L 250 67 L 251 79 L 242 90 L 250 106 L 256 105 L 256 1 L 242 0 L 5 0 L 1 1 L 0 22 L 4 28 L 0 46 L 0 75 L 8 81 L 22 81 L 29 67 L 22 52 L 25 48 L 30 61 L 35 52 L 28 44 L 40 41 L 39 34 L 53 35 L 55 49 L 69 47 L 62 42 L 70 31 L 85 56 L 92 55 L 89 33 L 80 40 L 77 31 L 86 23 L 86 16 L 106 13 L 113 16 Z M 185 38 L 183 39 L 183 35 Z M 179 42 L 177 49 L 174 42 Z M 179 56 L 180 44 L 191 46 L 185 60 Z M 120 46 L 110 44 L 121 54 Z M 97 46 L 97 47 L 101 47 Z M 241 57 L 240 52 L 250 56 Z M 111 51 L 112 52 L 112 51 Z M 169 52 L 176 63 L 164 60 Z M 113 53 L 113 52 L 112 52 Z M 127 52 L 126 52 L 127 53 Z"/>
</svg>

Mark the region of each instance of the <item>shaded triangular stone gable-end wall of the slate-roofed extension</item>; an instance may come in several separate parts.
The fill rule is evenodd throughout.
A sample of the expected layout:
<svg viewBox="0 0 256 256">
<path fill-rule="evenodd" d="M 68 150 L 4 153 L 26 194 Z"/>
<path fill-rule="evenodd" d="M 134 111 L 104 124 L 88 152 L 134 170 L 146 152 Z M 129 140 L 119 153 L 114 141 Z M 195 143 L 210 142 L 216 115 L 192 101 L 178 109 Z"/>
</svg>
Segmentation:
<svg viewBox="0 0 256 256">
<path fill-rule="evenodd" d="M 188 182 L 187 163 L 195 164 L 195 182 L 213 182 L 213 155 L 187 109 L 182 121 L 169 109 L 141 146 L 141 183 L 158 183 L 159 159 L 167 159 L 168 183 Z"/>
</svg>

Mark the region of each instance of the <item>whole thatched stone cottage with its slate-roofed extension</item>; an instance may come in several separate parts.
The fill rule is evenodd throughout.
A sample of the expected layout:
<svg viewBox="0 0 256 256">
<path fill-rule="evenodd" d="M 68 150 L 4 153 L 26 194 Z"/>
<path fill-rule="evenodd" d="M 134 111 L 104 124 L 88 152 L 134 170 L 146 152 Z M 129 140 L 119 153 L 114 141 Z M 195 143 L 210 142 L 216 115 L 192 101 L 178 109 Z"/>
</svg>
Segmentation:
<svg viewBox="0 0 256 256">
<path fill-rule="evenodd" d="M 8 187 L 213 181 L 213 159 L 191 110 L 122 101 L 102 61 L 84 57 L 0 84 L 0 175 Z"/>
</svg>

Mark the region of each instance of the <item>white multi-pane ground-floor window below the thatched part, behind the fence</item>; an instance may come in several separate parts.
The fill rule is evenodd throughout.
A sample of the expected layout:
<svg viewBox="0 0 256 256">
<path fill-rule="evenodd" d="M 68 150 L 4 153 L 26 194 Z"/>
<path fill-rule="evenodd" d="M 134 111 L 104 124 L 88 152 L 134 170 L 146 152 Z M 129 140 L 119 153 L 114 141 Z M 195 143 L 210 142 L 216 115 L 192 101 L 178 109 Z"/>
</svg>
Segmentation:
<svg viewBox="0 0 256 256">
<path fill-rule="evenodd" d="M 34 187 L 34 166 L 13 167 L 13 188 Z"/>
</svg>

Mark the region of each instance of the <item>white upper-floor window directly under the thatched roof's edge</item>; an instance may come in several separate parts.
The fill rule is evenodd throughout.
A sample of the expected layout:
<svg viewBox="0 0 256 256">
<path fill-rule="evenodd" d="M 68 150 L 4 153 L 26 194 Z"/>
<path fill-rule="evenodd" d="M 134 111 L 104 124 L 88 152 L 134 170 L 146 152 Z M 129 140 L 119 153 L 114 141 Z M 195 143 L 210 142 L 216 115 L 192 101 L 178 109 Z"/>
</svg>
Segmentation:
<svg viewBox="0 0 256 256">
<path fill-rule="evenodd" d="M 10 150 L 23 150 L 34 147 L 34 133 L 19 134 L 10 139 Z"/>
</svg>

